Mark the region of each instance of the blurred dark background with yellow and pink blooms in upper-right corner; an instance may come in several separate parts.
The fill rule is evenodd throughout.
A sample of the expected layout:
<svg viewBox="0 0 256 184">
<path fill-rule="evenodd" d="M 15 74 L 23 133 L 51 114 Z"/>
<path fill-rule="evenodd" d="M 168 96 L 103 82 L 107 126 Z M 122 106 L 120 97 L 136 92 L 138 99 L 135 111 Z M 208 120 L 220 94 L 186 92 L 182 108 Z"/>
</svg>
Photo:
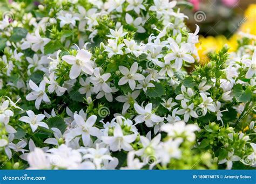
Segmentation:
<svg viewBox="0 0 256 184">
<path fill-rule="evenodd" d="M 179 3 L 184 1 L 179 1 Z M 197 44 L 200 62 L 208 62 L 208 53 L 225 44 L 234 51 L 240 35 L 256 40 L 256 0 L 187 0 L 193 8 L 180 11 L 189 18 L 187 26 L 193 32 L 199 25 Z"/>
</svg>

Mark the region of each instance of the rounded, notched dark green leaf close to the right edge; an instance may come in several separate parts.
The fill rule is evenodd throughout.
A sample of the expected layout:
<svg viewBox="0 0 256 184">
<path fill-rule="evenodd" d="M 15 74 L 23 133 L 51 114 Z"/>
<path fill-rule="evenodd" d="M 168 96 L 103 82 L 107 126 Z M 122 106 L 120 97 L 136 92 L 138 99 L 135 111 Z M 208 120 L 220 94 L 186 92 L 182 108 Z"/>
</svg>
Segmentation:
<svg viewBox="0 0 256 184">
<path fill-rule="evenodd" d="M 252 91 L 250 89 L 243 89 L 241 84 L 237 84 L 233 88 L 233 93 L 235 96 L 235 99 L 238 102 L 248 102 L 251 100 L 252 97 Z"/>
</svg>

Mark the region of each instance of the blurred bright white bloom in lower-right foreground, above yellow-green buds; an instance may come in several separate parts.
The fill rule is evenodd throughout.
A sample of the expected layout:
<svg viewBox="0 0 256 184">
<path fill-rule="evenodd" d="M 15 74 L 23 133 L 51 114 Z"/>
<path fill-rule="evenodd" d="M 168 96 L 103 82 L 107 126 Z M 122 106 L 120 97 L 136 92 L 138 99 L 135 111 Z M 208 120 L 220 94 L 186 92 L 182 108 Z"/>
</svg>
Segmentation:
<svg viewBox="0 0 256 184">
<path fill-rule="evenodd" d="M 184 121 L 178 121 L 172 124 L 164 124 L 161 126 L 160 130 L 166 132 L 168 136 L 173 138 L 185 136 L 188 141 L 192 142 L 196 139 L 194 131 L 200 131 L 200 128 L 197 124 L 186 125 Z"/>
</svg>

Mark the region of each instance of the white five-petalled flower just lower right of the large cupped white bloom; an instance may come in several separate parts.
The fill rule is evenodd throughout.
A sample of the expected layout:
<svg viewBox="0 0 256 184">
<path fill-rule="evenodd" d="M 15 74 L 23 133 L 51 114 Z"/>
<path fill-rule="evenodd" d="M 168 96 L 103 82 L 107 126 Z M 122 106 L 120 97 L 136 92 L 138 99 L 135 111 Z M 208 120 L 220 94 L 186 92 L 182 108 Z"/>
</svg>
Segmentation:
<svg viewBox="0 0 256 184">
<path fill-rule="evenodd" d="M 111 74 L 106 73 L 100 75 L 99 68 L 95 68 L 93 72 L 94 76 L 90 77 L 91 83 L 94 84 L 94 92 L 97 94 L 100 90 L 103 90 L 105 93 L 111 93 L 112 89 L 107 85 L 106 81 L 110 78 Z"/>
</svg>

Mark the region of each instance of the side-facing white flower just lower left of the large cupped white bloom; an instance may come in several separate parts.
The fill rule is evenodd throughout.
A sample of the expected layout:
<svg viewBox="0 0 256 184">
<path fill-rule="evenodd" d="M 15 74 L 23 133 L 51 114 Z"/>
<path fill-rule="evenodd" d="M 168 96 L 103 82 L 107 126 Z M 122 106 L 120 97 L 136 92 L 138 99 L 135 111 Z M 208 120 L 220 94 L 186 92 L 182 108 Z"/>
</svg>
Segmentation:
<svg viewBox="0 0 256 184">
<path fill-rule="evenodd" d="M 49 79 L 46 76 L 44 76 L 44 81 L 50 84 L 48 86 L 49 93 L 53 93 L 53 91 L 56 91 L 57 96 L 62 96 L 67 89 L 59 86 L 59 84 L 54 80 L 54 73 L 50 74 Z"/>
</svg>

